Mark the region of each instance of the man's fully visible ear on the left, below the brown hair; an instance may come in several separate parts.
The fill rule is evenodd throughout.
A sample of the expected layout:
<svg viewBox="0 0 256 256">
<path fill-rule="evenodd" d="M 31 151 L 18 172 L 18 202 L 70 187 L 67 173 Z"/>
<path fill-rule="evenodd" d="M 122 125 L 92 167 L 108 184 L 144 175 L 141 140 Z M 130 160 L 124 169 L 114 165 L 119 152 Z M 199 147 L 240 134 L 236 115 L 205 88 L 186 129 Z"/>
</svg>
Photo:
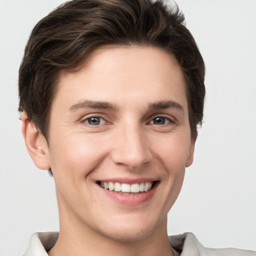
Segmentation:
<svg viewBox="0 0 256 256">
<path fill-rule="evenodd" d="M 22 134 L 25 140 L 26 149 L 34 164 L 43 170 L 50 168 L 48 162 L 48 145 L 46 139 L 40 134 L 26 113 L 21 115 Z"/>
</svg>

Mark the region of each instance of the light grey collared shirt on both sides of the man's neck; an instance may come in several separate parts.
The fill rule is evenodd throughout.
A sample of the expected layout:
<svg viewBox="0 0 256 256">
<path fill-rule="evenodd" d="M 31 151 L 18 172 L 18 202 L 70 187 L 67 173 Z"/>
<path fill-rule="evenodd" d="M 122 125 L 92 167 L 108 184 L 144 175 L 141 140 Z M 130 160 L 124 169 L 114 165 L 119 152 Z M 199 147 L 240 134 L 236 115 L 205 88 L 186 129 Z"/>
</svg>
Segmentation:
<svg viewBox="0 0 256 256">
<path fill-rule="evenodd" d="M 57 238 L 58 232 L 34 233 L 23 256 L 48 256 L 47 251 L 53 247 Z M 256 256 L 256 252 L 251 250 L 203 247 L 192 233 L 171 235 L 169 241 L 180 256 Z"/>
</svg>

